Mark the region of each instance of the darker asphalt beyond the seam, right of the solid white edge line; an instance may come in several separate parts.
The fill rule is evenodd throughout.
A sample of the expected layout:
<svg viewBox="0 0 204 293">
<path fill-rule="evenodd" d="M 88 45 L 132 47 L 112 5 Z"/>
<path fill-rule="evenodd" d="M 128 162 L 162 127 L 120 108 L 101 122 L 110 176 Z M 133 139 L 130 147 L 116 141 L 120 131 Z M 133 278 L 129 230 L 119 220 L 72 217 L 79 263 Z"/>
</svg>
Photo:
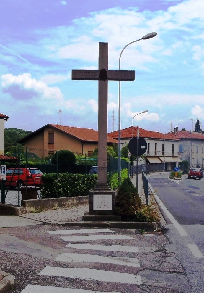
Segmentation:
<svg viewBox="0 0 204 293">
<path fill-rule="evenodd" d="M 181 225 L 204 224 L 204 178 L 169 180 L 169 173 L 148 176 L 161 201 Z"/>
</svg>

